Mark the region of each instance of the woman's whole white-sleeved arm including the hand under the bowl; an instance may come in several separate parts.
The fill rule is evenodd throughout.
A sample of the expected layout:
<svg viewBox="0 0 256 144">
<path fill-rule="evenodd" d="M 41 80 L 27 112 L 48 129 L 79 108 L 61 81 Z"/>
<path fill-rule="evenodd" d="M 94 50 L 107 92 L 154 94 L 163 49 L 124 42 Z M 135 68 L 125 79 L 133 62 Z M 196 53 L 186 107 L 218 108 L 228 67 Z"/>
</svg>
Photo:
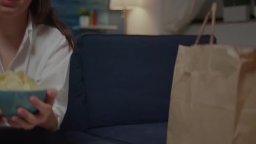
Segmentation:
<svg viewBox="0 0 256 144">
<path fill-rule="evenodd" d="M 51 52 L 43 57 L 47 59 L 43 69 L 40 69 L 40 78 L 37 83 L 40 87 L 47 88 L 47 98 L 40 101 L 37 97 L 30 97 L 30 101 L 38 109 L 39 113 L 31 114 L 26 109 L 18 108 L 17 112 L 24 120 L 13 116 L 11 122 L 13 127 L 32 129 L 36 126 L 56 131 L 67 110 L 68 88 L 69 88 L 69 62 L 72 49 L 63 36 L 59 38 L 59 44 L 54 45 Z"/>
</svg>

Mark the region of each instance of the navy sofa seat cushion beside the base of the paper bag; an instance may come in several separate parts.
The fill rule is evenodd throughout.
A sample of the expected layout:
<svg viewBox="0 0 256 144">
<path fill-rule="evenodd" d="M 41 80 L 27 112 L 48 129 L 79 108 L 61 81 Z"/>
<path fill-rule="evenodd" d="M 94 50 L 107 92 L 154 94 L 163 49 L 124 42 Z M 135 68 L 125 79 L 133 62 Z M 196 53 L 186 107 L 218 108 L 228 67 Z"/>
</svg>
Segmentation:
<svg viewBox="0 0 256 144">
<path fill-rule="evenodd" d="M 120 125 L 96 128 L 88 133 L 127 144 L 166 144 L 167 123 Z"/>
</svg>

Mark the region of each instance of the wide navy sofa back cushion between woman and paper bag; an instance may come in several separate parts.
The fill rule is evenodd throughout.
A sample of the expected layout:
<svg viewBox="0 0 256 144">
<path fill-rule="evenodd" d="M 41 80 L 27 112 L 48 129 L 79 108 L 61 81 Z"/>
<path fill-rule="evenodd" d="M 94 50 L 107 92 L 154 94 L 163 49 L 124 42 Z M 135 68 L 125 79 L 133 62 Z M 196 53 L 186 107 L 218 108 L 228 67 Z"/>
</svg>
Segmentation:
<svg viewBox="0 0 256 144">
<path fill-rule="evenodd" d="M 76 46 L 85 70 L 83 108 L 88 110 L 89 128 L 166 122 L 178 46 L 192 45 L 195 39 L 80 35 Z M 209 36 L 201 38 L 200 43 L 208 42 Z"/>
</svg>

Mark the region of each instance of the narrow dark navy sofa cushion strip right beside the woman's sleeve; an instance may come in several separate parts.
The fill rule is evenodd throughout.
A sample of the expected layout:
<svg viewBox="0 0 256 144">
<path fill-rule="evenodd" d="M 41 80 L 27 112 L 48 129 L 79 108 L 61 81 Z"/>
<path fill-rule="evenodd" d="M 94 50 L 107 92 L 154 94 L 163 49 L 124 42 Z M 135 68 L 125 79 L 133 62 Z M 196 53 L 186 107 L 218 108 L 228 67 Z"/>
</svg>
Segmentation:
<svg viewBox="0 0 256 144">
<path fill-rule="evenodd" d="M 83 69 L 80 55 L 73 53 L 69 73 L 69 101 L 67 112 L 61 123 L 61 131 L 87 131 L 87 109 Z"/>
</svg>

